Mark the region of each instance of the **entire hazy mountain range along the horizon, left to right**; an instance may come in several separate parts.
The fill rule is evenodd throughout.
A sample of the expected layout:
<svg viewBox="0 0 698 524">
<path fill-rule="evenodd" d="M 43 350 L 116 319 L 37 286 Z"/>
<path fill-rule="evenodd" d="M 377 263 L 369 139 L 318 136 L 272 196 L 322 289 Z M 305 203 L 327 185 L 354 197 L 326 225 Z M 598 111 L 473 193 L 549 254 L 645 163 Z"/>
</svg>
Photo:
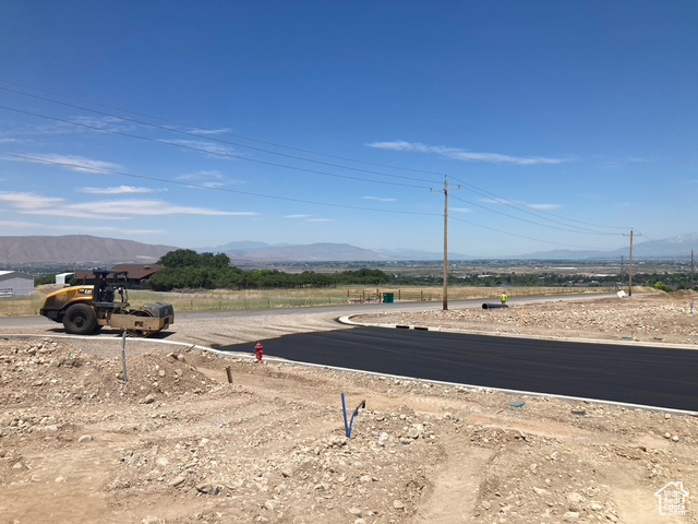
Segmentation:
<svg viewBox="0 0 698 524">
<path fill-rule="evenodd" d="M 133 240 L 101 238 L 89 235 L 0 237 L 0 269 L 21 265 L 107 266 L 117 263 L 148 264 L 180 248 L 153 246 Z M 637 259 L 689 259 L 698 249 L 698 233 L 635 243 Z M 233 264 L 254 262 L 371 262 L 443 260 L 443 253 L 420 250 L 370 250 L 348 243 L 269 245 L 260 241 L 236 241 L 196 249 L 198 252 L 226 253 Z M 628 245 L 609 251 L 538 251 L 522 255 L 498 257 L 519 260 L 585 260 L 629 258 Z M 473 260 L 450 252 L 452 261 Z"/>
</svg>

